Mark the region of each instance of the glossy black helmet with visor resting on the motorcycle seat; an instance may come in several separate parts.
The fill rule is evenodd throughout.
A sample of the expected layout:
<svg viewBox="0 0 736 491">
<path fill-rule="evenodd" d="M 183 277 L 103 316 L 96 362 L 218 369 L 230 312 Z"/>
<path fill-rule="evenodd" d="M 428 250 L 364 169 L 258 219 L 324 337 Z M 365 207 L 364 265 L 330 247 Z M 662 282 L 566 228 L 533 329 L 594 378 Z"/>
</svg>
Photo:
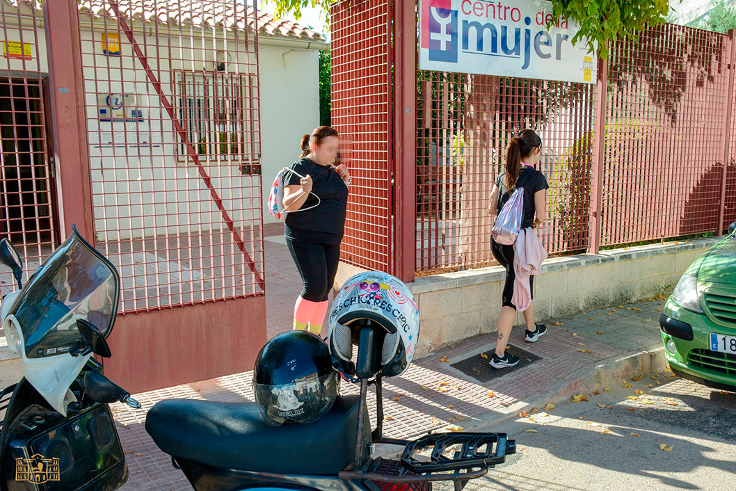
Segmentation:
<svg viewBox="0 0 736 491">
<path fill-rule="evenodd" d="M 327 345 L 306 331 L 279 334 L 255 358 L 255 403 L 267 425 L 314 423 L 332 407 L 339 384 Z"/>
</svg>

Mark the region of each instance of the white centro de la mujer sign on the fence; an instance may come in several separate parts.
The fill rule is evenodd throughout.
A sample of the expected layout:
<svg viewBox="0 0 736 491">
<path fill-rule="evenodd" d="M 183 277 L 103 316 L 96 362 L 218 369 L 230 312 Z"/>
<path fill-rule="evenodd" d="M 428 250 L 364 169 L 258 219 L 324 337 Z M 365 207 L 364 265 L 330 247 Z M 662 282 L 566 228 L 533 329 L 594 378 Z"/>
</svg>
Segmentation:
<svg viewBox="0 0 736 491">
<path fill-rule="evenodd" d="M 420 0 L 420 69 L 594 83 L 594 55 L 572 43 L 578 25 L 551 10 L 545 0 Z"/>
</svg>

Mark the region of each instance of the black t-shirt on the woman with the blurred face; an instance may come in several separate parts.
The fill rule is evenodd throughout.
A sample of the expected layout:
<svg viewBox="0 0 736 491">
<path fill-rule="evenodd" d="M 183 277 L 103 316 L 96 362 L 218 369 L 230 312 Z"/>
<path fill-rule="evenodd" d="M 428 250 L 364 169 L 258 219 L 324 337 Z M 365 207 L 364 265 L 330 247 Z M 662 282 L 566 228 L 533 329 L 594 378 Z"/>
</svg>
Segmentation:
<svg viewBox="0 0 736 491">
<path fill-rule="evenodd" d="M 300 158 L 289 169 L 304 177 L 309 174 L 312 193 L 322 201 L 311 210 L 286 215 L 286 237 L 296 241 L 339 244 L 345 230 L 347 184 L 333 166 L 320 166 L 308 158 Z M 284 186 L 299 186 L 302 178 L 294 172 L 283 174 Z M 314 194 L 309 194 L 301 208 L 316 205 Z"/>
</svg>

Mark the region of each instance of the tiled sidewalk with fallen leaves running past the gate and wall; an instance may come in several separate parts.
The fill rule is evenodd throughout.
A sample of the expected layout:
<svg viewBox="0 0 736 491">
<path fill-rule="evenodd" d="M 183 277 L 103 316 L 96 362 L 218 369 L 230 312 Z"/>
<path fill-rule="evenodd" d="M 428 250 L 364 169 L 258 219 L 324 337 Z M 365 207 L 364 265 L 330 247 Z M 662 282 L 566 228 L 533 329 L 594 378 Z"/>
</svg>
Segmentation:
<svg viewBox="0 0 736 491">
<path fill-rule="evenodd" d="M 270 337 L 291 327 L 292 301 L 300 292 L 296 269 L 277 236 L 266 240 L 266 268 Z M 590 311 L 570 319 L 550 319 L 548 333 L 534 344 L 524 342 L 523 327 L 516 327 L 509 349 L 525 350 L 520 354 L 529 362 L 516 369 L 485 370 L 487 360 L 481 353 L 489 356 L 495 335 L 459 342 L 421 358 L 400 378 L 384 381 L 384 434 L 411 438 L 431 429 L 459 426 L 469 431 L 481 424 L 502 431 L 502 423 L 517 417 L 520 411 L 541 409 L 545 403 L 558 403 L 578 392 L 602 389 L 607 381 L 661 370 L 664 356 L 658 319 L 662 303 L 663 299 L 653 299 Z M 487 380 L 489 377 L 495 378 Z M 358 389 L 343 382 L 341 392 L 357 393 Z M 183 473 L 171 467 L 169 456 L 160 452 L 146 434 L 146 410 L 165 398 L 252 401 L 251 373 L 134 397 L 141 401 L 143 409 L 113 406 L 130 471 L 122 489 L 186 490 L 189 487 Z M 368 403 L 373 414 L 375 398 L 369 395 Z"/>
</svg>

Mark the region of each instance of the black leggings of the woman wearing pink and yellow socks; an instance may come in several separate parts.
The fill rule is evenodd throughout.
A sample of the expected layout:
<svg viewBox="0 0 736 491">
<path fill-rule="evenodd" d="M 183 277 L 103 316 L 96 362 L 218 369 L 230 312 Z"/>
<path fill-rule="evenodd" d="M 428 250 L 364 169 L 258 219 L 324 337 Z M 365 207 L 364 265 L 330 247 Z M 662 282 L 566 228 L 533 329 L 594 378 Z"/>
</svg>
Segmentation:
<svg viewBox="0 0 736 491">
<path fill-rule="evenodd" d="M 286 246 L 302 275 L 302 298 L 310 302 L 328 300 L 340 261 L 340 244 L 314 244 L 286 239 Z"/>
</svg>

